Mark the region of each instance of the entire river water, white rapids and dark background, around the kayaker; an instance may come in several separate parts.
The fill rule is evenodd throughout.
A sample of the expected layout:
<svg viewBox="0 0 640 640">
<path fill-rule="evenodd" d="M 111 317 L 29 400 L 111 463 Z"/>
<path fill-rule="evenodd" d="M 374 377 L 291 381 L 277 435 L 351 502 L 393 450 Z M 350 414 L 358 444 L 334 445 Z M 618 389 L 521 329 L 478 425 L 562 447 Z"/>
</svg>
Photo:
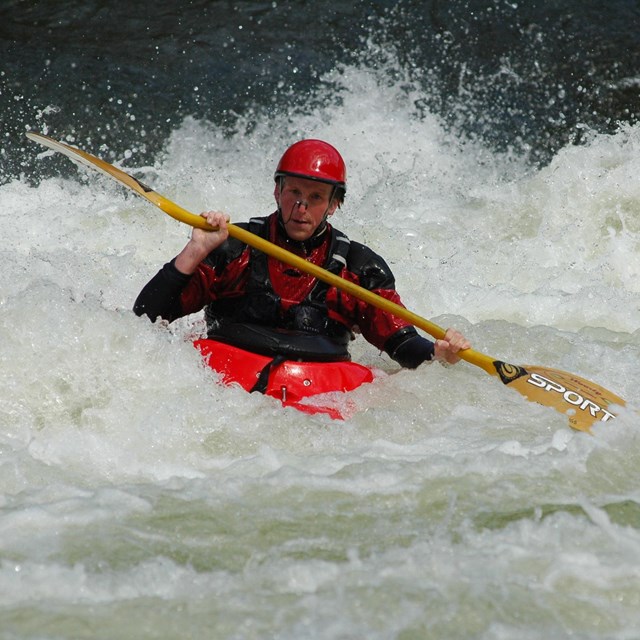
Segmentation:
<svg viewBox="0 0 640 640">
<path fill-rule="evenodd" d="M 0 638 L 640 637 L 638 3 L 154 6 L 0 9 Z M 361 338 L 345 422 L 224 388 L 131 312 L 189 229 L 28 129 L 234 221 L 327 139 L 411 310 L 631 409 Z"/>
</svg>

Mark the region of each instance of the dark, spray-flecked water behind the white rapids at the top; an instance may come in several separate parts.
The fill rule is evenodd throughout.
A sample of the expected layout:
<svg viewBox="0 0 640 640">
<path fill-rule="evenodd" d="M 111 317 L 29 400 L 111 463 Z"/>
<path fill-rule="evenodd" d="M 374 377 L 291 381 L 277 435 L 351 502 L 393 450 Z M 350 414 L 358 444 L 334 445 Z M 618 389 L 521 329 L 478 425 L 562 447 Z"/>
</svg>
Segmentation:
<svg viewBox="0 0 640 640">
<path fill-rule="evenodd" d="M 340 99 L 327 71 L 388 55 L 422 90 L 416 117 L 534 163 L 640 117 L 635 0 L 14 0 L 0 3 L 0 175 L 34 171 L 28 129 L 148 162 L 185 116 L 277 126 Z"/>
</svg>

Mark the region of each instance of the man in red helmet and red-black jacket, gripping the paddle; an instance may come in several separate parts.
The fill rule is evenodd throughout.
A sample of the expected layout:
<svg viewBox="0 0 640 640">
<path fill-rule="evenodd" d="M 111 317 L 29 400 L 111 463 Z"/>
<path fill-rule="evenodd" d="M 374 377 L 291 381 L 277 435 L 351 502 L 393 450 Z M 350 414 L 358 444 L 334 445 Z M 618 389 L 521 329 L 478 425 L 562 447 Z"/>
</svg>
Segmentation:
<svg viewBox="0 0 640 640">
<path fill-rule="evenodd" d="M 296 142 L 283 154 L 274 178 L 276 211 L 237 226 L 402 304 L 386 262 L 329 224 L 347 187 L 337 149 L 322 140 Z M 184 249 L 141 291 L 137 315 L 171 322 L 204 308 L 210 338 L 251 350 L 247 336 L 261 327 L 267 339 L 282 341 L 285 355 L 287 341 L 301 336 L 308 344 L 315 337 L 322 350 L 327 344 L 335 350 L 336 360 L 348 358 L 348 343 L 360 332 L 406 368 L 430 360 L 454 364 L 458 352 L 471 346 L 452 328 L 434 343 L 405 320 L 230 238 L 225 213 L 201 215 L 217 231 L 193 229 Z"/>
</svg>

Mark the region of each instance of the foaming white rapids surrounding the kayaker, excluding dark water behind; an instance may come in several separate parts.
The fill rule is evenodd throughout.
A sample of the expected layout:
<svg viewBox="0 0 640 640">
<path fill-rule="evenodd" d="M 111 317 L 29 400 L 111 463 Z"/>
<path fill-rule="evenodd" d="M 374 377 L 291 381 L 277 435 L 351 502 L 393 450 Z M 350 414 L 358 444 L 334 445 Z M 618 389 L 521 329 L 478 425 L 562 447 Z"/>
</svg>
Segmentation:
<svg viewBox="0 0 640 640">
<path fill-rule="evenodd" d="M 640 128 L 532 169 L 416 117 L 401 81 L 330 80 L 311 113 L 187 118 L 122 166 L 240 221 L 272 210 L 288 144 L 324 138 L 349 171 L 335 225 L 410 309 L 636 403 Z M 187 227 L 84 172 L 1 186 L 0 219 L 3 637 L 634 637 L 633 411 L 576 433 L 478 368 L 398 371 L 361 338 L 391 375 L 353 418 L 284 410 L 203 367 L 199 317 L 131 312 Z"/>
</svg>

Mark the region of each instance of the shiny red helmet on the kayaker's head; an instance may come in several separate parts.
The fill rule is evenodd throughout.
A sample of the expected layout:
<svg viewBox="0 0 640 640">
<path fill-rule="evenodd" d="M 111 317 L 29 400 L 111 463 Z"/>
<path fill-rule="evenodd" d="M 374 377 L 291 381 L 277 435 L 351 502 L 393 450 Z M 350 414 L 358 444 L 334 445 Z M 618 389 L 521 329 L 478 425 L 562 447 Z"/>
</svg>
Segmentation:
<svg viewBox="0 0 640 640">
<path fill-rule="evenodd" d="M 347 168 L 335 147 L 322 140 L 300 140 L 292 144 L 280 158 L 274 178 L 294 176 L 318 180 L 347 190 Z"/>
</svg>

